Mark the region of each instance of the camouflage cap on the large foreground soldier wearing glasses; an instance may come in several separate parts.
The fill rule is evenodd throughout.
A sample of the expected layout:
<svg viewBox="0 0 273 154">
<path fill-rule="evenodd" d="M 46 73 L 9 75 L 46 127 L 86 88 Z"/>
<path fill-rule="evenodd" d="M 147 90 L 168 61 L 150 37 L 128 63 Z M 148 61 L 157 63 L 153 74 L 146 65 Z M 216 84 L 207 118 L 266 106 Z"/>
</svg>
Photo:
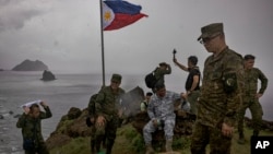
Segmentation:
<svg viewBox="0 0 273 154">
<path fill-rule="evenodd" d="M 198 37 L 198 40 L 200 40 L 201 38 L 211 37 L 213 34 L 216 33 L 224 33 L 224 25 L 223 23 L 209 24 L 201 28 L 201 33 L 202 34 Z"/>
</svg>

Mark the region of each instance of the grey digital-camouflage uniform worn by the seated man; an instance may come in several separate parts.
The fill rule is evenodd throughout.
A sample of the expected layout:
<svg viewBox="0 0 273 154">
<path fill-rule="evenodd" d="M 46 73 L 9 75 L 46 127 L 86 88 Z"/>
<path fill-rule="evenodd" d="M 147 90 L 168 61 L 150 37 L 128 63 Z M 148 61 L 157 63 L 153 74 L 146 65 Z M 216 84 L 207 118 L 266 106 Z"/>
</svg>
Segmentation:
<svg viewBox="0 0 273 154">
<path fill-rule="evenodd" d="M 151 133 L 157 129 L 153 125 L 153 120 L 155 119 L 163 122 L 162 126 L 164 126 L 164 128 L 162 129 L 164 129 L 166 140 L 173 140 L 176 120 L 176 115 L 174 112 L 174 103 L 179 98 L 179 94 L 168 91 L 163 98 L 159 98 L 157 95 L 152 96 L 147 106 L 147 114 L 151 120 L 143 128 L 143 137 L 146 145 L 151 144 Z"/>
</svg>

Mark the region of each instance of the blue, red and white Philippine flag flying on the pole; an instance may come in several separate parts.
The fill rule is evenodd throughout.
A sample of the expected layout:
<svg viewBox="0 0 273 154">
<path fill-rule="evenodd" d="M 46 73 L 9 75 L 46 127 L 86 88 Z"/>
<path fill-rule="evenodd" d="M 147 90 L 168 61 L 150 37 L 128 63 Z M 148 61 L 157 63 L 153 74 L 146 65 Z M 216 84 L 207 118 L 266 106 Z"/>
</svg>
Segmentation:
<svg viewBox="0 0 273 154">
<path fill-rule="evenodd" d="M 140 13 L 141 5 L 122 0 L 107 0 L 103 2 L 103 28 L 111 31 L 130 25 L 146 14 Z"/>
</svg>

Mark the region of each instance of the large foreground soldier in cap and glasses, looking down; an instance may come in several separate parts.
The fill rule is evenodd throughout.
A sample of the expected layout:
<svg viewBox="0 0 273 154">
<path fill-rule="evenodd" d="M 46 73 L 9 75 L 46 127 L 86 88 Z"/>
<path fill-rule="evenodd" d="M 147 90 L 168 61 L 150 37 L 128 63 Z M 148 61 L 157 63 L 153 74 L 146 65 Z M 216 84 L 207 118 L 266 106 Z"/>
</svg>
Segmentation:
<svg viewBox="0 0 273 154">
<path fill-rule="evenodd" d="M 192 154 L 229 154 L 244 85 L 242 57 L 225 43 L 223 23 L 201 28 L 198 38 L 213 55 L 204 63 L 198 116 L 191 140 Z"/>
</svg>

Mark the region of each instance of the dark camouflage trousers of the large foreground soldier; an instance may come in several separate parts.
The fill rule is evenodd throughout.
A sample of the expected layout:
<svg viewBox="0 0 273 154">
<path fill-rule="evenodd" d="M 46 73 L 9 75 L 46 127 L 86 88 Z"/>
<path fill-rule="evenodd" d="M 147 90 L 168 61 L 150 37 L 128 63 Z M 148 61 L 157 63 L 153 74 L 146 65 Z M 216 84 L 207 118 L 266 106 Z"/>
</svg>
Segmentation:
<svg viewBox="0 0 273 154">
<path fill-rule="evenodd" d="M 219 128 L 195 123 L 191 138 L 191 154 L 205 154 L 207 144 L 210 154 L 230 154 L 232 138 L 224 137 Z"/>
</svg>

